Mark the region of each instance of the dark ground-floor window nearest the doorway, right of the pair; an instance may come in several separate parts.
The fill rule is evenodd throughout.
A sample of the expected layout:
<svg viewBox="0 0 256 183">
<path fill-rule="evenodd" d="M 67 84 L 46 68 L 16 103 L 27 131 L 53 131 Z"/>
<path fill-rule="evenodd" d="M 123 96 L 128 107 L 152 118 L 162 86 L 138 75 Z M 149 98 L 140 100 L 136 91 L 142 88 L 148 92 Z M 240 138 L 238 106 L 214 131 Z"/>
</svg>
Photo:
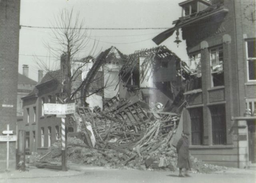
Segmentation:
<svg viewBox="0 0 256 183">
<path fill-rule="evenodd" d="M 212 144 L 224 145 L 227 143 L 225 105 L 211 106 L 212 117 Z"/>
</svg>

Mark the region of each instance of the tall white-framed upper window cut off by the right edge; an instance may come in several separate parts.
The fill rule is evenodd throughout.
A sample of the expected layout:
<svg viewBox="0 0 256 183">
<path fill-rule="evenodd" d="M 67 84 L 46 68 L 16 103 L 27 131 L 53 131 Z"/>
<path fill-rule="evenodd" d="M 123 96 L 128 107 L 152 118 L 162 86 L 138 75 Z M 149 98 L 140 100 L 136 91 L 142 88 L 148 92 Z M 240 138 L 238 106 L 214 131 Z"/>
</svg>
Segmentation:
<svg viewBox="0 0 256 183">
<path fill-rule="evenodd" d="M 248 68 L 248 81 L 256 81 L 256 41 L 246 42 L 246 59 Z"/>
</svg>

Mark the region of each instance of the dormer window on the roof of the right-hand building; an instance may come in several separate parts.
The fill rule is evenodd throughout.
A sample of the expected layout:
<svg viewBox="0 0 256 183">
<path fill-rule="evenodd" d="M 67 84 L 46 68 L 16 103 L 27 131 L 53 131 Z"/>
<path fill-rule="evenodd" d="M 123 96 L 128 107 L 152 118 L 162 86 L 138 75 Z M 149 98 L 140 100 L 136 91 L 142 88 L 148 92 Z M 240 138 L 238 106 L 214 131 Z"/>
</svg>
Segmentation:
<svg viewBox="0 0 256 183">
<path fill-rule="evenodd" d="M 179 3 L 179 6 L 182 7 L 182 17 L 198 13 L 203 11 L 211 5 L 209 1 L 205 0 L 188 0 L 182 3 Z"/>
</svg>

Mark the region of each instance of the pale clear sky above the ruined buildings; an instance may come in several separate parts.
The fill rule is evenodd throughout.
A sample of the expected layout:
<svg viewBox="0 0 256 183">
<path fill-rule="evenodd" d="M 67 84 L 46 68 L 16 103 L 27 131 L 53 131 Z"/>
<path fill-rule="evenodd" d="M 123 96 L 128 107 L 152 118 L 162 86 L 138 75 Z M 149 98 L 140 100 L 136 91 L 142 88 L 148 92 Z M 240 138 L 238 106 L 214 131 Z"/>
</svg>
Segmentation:
<svg viewBox="0 0 256 183">
<path fill-rule="evenodd" d="M 54 17 L 67 9 L 79 12 L 79 19 L 84 19 L 87 28 L 148 28 L 173 27 L 173 20 L 181 15 L 180 0 L 21 0 L 20 25 L 34 27 L 51 27 Z M 147 30 L 89 30 L 90 43 L 79 57 L 88 56 L 88 50 L 94 40 L 98 41 L 95 55 L 111 46 L 123 54 L 132 54 L 136 50 L 157 47 L 152 41 L 154 36 L 165 29 Z M 29 66 L 29 78 L 38 80 L 38 64 L 40 59 L 48 65 L 59 60 L 54 57 L 45 43 L 51 45 L 51 29 L 21 27 L 19 43 L 19 73 L 22 65 Z M 180 35 L 180 40 L 182 40 Z M 186 43 L 182 41 L 179 48 L 175 34 L 161 43 L 180 59 L 188 61 Z M 44 73 L 45 74 L 45 73 Z"/>
</svg>

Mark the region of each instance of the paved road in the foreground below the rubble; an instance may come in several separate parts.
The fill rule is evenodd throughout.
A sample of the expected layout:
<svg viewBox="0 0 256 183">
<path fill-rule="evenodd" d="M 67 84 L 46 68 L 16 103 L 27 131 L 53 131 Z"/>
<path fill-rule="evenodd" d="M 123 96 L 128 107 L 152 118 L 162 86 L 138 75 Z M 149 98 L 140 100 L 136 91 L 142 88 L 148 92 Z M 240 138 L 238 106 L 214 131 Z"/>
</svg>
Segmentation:
<svg viewBox="0 0 256 183">
<path fill-rule="evenodd" d="M 40 170 L 31 170 L 33 171 Z M 26 173 L 26 172 L 24 172 Z M 35 172 L 36 173 L 36 172 Z M 177 172 L 151 172 L 140 170 L 115 170 L 100 167 L 85 167 L 80 168 L 80 172 L 75 174 L 65 174 L 58 176 L 58 173 L 63 172 L 51 172 L 51 177 L 10 177 L 7 175 L 0 179 L 0 183 L 77 183 L 77 182 L 92 182 L 92 183 L 120 183 L 120 182 L 152 182 L 152 183 L 165 183 L 165 182 L 189 182 L 189 183 L 253 183 L 255 180 L 255 172 L 252 170 L 236 170 L 225 173 L 211 173 L 211 174 L 199 174 L 191 173 L 191 177 L 180 178 L 177 177 Z M 56 175 L 56 176 L 54 176 Z M 49 173 L 50 176 L 50 173 Z"/>
</svg>

